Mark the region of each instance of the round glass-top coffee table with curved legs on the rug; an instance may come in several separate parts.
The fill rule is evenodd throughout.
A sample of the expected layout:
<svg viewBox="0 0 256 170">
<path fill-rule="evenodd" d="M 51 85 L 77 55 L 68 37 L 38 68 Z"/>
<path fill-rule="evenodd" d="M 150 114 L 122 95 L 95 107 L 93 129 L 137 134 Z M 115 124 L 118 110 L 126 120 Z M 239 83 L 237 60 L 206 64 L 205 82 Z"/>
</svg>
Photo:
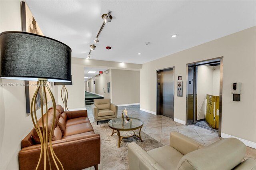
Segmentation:
<svg viewBox="0 0 256 170">
<path fill-rule="evenodd" d="M 143 121 L 141 121 L 140 119 L 130 117 L 129 122 L 125 123 L 125 121 L 122 121 L 122 118 L 120 117 L 110 120 L 108 122 L 108 127 L 113 129 L 111 136 L 113 136 L 114 133 L 118 134 L 118 148 L 120 147 L 120 143 L 123 138 L 137 136 L 142 141 L 140 133 L 138 135 L 135 134 L 135 132 L 133 131 L 139 128 L 141 131 L 141 128 L 143 127 Z M 114 132 L 114 130 L 116 130 L 116 132 Z"/>
</svg>

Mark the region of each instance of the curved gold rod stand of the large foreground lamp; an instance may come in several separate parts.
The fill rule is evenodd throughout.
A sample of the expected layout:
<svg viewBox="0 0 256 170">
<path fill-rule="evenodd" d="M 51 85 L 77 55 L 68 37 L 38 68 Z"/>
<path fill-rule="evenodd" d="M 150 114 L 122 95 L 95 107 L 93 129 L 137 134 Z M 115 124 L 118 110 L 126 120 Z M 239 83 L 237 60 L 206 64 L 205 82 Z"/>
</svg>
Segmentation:
<svg viewBox="0 0 256 170">
<path fill-rule="evenodd" d="M 48 146 L 48 127 L 47 127 L 47 125 L 48 125 L 48 105 L 47 105 L 46 89 L 50 93 L 50 97 L 52 99 L 52 104 L 53 104 L 53 109 L 54 109 L 54 112 L 53 112 L 53 117 L 54 118 L 56 117 L 56 102 L 55 102 L 54 96 L 53 96 L 50 88 L 48 87 L 48 85 L 46 85 L 46 83 L 47 83 L 47 79 L 38 79 L 38 86 L 36 88 L 36 92 L 33 95 L 32 102 L 31 102 L 31 107 L 30 107 L 30 113 L 31 113 L 32 122 L 33 122 L 34 127 L 36 129 L 36 132 L 37 132 L 37 134 L 38 134 L 38 136 L 40 138 L 40 143 L 41 143 L 40 158 L 38 160 L 38 164 L 36 166 L 36 170 L 38 169 L 39 164 L 40 164 L 40 162 L 42 160 L 43 153 L 44 153 L 44 170 L 46 170 L 46 154 L 47 154 L 47 157 L 48 157 L 48 162 L 49 162 L 49 165 L 50 165 L 50 170 L 52 169 L 51 168 L 52 166 L 51 166 L 51 161 L 50 161 L 50 155 L 49 155 L 49 152 L 48 152 L 48 147 L 50 148 L 50 154 L 52 156 L 52 160 L 53 160 L 56 168 L 58 170 L 60 169 L 58 167 L 58 164 L 57 164 L 57 162 L 58 162 L 59 165 L 61 166 L 62 170 L 64 170 L 60 160 L 57 158 L 57 156 L 54 153 L 54 150 L 52 148 L 52 132 L 54 131 L 55 119 L 53 119 L 52 127 L 51 127 L 51 130 L 50 130 L 49 146 Z M 40 87 L 41 87 L 41 89 L 40 89 Z M 41 91 L 42 132 L 41 132 L 41 129 L 40 129 L 39 124 L 38 124 L 38 119 L 36 117 L 36 97 L 38 96 L 38 91 L 39 90 Z M 44 127 L 44 119 L 43 119 L 43 117 L 44 117 L 43 97 L 45 97 L 45 100 L 46 100 L 46 128 Z M 57 162 L 56 162 L 56 160 L 57 160 Z"/>
</svg>

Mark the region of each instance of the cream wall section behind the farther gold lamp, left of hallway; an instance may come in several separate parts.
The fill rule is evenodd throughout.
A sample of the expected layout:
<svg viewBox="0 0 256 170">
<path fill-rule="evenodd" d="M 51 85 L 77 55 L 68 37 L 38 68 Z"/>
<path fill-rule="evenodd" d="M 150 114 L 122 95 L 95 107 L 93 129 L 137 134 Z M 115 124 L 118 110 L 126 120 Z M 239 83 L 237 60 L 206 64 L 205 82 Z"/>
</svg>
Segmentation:
<svg viewBox="0 0 256 170">
<path fill-rule="evenodd" d="M 80 65 L 71 65 L 72 85 L 66 85 L 68 90 L 68 109 L 85 108 L 84 95 L 84 67 Z M 63 106 L 60 96 L 62 86 L 58 86 L 58 103 Z"/>
</svg>

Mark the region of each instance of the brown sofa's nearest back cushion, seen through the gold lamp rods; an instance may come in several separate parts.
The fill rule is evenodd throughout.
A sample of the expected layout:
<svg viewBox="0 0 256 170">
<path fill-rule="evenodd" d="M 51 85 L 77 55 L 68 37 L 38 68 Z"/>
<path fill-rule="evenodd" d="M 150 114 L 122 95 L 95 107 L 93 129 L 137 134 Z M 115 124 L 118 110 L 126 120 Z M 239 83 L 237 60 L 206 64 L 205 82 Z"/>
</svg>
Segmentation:
<svg viewBox="0 0 256 170">
<path fill-rule="evenodd" d="M 58 112 L 58 111 L 56 111 L 56 112 Z M 43 119 L 44 119 L 44 129 L 45 129 L 46 128 L 46 114 L 44 114 Z M 48 111 L 48 125 L 47 125 L 47 127 L 48 127 L 48 141 L 49 141 L 49 138 L 50 138 L 50 130 L 52 128 L 53 119 L 55 119 L 55 118 L 53 117 L 53 109 L 51 109 L 51 110 Z M 41 132 L 43 132 L 42 118 L 39 119 L 38 124 L 39 124 Z M 56 128 L 56 126 L 57 126 L 57 121 L 55 120 L 54 121 L 54 129 Z M 34 139 L 34 142 L 36 144 L 39 144 L 40 143 L 40 138 L 39 138 L 39 136 L 36 132 L 36 129 L 33 128 L 32 131 L 33 131 L 32 132 L 32 137 Z M 55 137 L 54 133 L 52 133 L 52 136 L 51 136 L 52 140 L 54 140 L 54 137 Z"/>
</svg>

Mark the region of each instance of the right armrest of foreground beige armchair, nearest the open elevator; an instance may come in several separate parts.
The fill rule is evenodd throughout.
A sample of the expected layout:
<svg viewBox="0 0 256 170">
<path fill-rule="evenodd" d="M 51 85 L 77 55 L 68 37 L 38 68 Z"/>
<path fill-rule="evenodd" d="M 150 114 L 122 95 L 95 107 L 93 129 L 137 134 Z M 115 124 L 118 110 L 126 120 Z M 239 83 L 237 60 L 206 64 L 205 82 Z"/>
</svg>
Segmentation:
<svg viewBox="0 0 256 170">
<path fill-rule="evenodd" d="M 194 150 L 205 147 L 205 144 L 201 144 L 196 140 L 185 136 L 179 132 L 171 132 L 170 133 L 170 146 L 174 149 L 178 150 L 182 154 L 187 154 Z"/>
</svg>

